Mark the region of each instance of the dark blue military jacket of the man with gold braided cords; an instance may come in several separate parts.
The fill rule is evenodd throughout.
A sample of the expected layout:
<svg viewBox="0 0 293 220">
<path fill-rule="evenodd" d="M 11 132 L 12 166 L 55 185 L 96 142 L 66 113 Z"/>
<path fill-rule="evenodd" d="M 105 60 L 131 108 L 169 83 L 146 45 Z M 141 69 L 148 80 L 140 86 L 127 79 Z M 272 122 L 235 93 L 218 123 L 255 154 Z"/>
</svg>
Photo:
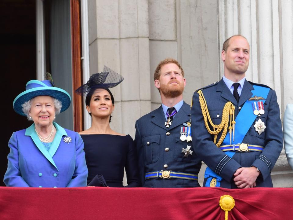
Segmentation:
<svg viewBox="0 0 293 220">
<path fill-rule="evenodd" d="M 264 86 L 264 85 L 259 85 Z M 220 124 L 222 120 L 222 110 L 226 102 L 231 101 L 235 106 L 235 118 L 251 96 L 251 90 L 254 90 L 253 83 L 245 80 L 242 88 L 239 103 L 226 86 L 223 79 L 214 85 L 202 89 L 204 98 L 207 102 L 208 111 L 214 124 Z M 194 148 L 199 157 L 214 171 L 221 176 L 221 187 L 237 188 L 233 181 L 233 174 L 240 167 L 257 167 L 261 174 L 256 180 L 257 187 L 272 187 L 270 172 L 272 171 L 280 152 L 283 148 L 283 133 L 280 121 L 280 110 L 277 103 L 277 96 L 274 90 L 270 89 L 264 102 L 265 113 L 256 116 L 255 121 L 251 124 L 247 134 L 244 136 L 242 143 L 251 145 L 260 145 L 264 149 L 262 152 L 236 152 L 232 158 L 222 152 L 213 142 L 214 135 L 209 134 L 204 124 L 204 118 L 199 103 L 199 94 L 193 95 L 193 105 L 191 108 L 192 140 Z M 253 111 L 251 105 L 251 111 Z M 259 119 L 265 123 L 266 129 L 259 134 L 255 127 L 255 122 Z M 229 122 L 230 123 L 230 122 Z M 235 130 L 239 124 L 235 124 Z M 196 128 L 196 129 L 195 129 Z M 222 132 L 218 134 L 217 142 Z M 227 132 L 229 135 L 229 131 Z"/>
</svg>

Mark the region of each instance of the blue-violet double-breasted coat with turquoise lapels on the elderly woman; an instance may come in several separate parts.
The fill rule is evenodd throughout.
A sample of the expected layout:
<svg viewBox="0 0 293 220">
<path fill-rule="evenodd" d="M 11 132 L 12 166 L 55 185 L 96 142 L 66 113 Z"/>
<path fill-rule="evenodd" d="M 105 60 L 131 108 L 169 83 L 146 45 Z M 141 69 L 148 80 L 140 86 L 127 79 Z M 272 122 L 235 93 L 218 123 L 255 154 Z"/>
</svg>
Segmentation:
<svg viewBox="0 0 293 220">
<path fill-rule="evenodd" d="M 56 134 L 49 152 L 34 131 L 34 123 L 27 129 L 13 132 L 8 143 L 10 153 L 4 175 L 6 186 L 86 186 L 88 169 L 80 135 L 53 124 Z M 65 143 L 65 137 L 71 137 L 71 142 Z"/>
</svg>

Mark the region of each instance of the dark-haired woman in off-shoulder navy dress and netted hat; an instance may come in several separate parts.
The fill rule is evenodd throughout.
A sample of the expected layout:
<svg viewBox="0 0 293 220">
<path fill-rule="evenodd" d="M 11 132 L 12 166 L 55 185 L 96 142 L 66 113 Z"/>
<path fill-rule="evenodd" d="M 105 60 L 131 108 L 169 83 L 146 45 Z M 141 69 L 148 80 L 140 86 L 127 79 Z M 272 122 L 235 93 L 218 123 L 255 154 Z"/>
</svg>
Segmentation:
<svg viewBox="0 0 293 220">
<path fill-rule="evenodd" d="M 104 72 L 93 74 L 76 90 L 78 94 L 86 94 L 86 109 L 92 117 L 92 126 L 79 133 L 85 144 L 88 183 L 96 174 L 103 174 L 108 186 L 123 187 L 125 168 L 127 187 L 140 186 L 133 139 L 110 128 L 114 97 L 109 88 L 122 81 L 121 75 L 104 66 Z"/>
</svg>

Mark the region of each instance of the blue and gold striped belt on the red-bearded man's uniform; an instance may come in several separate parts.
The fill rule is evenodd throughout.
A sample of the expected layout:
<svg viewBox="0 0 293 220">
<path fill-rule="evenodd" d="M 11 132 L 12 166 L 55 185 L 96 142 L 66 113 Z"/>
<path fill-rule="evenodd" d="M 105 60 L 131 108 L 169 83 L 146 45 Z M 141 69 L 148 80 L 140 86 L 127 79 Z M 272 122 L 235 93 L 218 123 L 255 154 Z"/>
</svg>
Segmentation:
<svg viewBox="0 0 293 220">
<path fill-rule="evenodd" d="M 154 171 L 154 172 L 148 172 L 146 173 L 145 179 L 150 178 L 161 178 L 161 179 L 188 179 L 188 180 L 196 180 L 198 179 L 196 174 L 190 174 L 190 173 L 181 173 L 181 172 L 175 172 L 175 171 Z"/>
</svg>

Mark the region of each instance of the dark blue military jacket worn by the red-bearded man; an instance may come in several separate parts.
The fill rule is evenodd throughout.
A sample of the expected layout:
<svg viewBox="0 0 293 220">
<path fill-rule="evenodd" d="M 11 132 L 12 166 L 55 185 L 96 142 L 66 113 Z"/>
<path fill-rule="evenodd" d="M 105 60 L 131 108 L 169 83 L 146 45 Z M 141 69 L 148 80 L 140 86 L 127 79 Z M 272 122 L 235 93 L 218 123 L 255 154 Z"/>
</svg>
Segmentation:
<svg viewBox="0 0 293 220">
<path fill-rule="evenodd" d="M 201 168 L 201 160 L 195 151 L 187 158 L 183 157 L 184 153 L 181 153 L 182 148 L 186 149 L 187 145 L 194 150 L 193 141 L 180 140 L 183 123 L 190 122 L 190 105 L 183 103 L 169 128 L 164 126 L 165 121 L 162 106 L 136 121 L 135 144 L 142 185 L 144 187 L 199 187 L 200 185 L 195 180 L 175 178 L 145 180 L 147 172 L 167 170 L 198 174 Z M 166 148 L 169 150 L 166 151 Z M 165 164 L 168 165 L 167 168 L 164 168 Z"/>
</svg>

